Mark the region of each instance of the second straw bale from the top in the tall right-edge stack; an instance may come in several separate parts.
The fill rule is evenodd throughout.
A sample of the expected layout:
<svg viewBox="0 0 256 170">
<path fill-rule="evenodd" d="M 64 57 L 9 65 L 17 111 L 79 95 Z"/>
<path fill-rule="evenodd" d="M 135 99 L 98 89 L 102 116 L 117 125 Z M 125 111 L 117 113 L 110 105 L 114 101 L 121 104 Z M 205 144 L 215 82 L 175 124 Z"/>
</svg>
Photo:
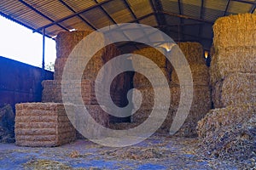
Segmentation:
<svg viewBox="0 0 256 170">
<path fill-rule="evenodd" d="M 256 73 L 256 46 L 225 48 L 213 55 L 210 67 L 212 84 L 236 72 Z"/>
</svg>

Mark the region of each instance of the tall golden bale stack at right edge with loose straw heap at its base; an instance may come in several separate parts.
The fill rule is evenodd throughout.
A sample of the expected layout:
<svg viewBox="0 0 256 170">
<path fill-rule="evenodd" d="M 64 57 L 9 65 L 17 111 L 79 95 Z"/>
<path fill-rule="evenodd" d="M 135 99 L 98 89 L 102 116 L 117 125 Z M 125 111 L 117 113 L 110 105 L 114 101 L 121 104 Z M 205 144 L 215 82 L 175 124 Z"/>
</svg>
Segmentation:
<svg viewBox="0 0 256 170">
<path fill-rule="evenodd" d="M 255 155 L 256 16 L 220 18 L 213 32 L 210 77 L 215 110 L 198 123 L 198 133 L 212 155 L 248 158 Z"/>
</svg>

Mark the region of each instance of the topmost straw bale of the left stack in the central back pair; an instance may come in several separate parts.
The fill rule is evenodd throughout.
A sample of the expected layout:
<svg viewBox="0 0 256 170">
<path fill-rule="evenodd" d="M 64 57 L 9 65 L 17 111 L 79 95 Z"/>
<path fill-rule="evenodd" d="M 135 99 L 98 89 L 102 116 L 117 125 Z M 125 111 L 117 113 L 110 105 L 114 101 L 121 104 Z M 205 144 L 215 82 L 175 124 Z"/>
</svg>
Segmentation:
<svg viewBox="0 0 256 170">
<path fill-rule="evenodd" d="M 160 51 L 158 51 L 156 48 L 141 48 L 134 51 L 133 54 L 143 55 L 144 57 L 151 59 L 154 64 L 158 65 L 160 68 L 167 68 L 168 70 L 172 71 L 172 67 L 168 62 L 168 59 L 166 59 L 166 56 L 164 54 L 161 54 Z M 145 65 L 144 62 L 133 62 L 132 64 L 137 65 L 137 67 L 139 68 L 154 68 L 154 65 L 148 65 L 148 63 L 147 65 Z"/>
</svg>

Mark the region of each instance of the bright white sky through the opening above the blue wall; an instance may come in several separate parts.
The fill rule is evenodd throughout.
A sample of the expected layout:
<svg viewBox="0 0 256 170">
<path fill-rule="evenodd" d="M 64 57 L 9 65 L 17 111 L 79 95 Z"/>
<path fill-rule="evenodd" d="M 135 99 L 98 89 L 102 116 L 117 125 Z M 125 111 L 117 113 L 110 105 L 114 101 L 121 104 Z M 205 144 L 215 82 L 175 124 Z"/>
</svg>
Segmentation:
<svg viewBox="0 0 256 170">
<path fill-rule="evenodd" d="M 0 16 L 0 56 L 42 66 L 43 36 Z M 55 41 L 45 38 L 45 65 L 55 62 Z"/>
</svg>

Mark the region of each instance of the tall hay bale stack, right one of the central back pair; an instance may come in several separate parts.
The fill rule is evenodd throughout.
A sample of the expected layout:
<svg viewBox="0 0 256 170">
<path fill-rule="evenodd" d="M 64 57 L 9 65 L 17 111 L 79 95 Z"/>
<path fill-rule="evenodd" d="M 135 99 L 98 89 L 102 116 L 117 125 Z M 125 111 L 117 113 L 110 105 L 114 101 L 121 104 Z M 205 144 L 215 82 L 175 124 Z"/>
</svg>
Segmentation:
<svg viewBox="0 0 256 170">
<path fill-rule="evenodd" d="M 203 57 L 203 48 L 198 42 L 179 42 L 177 44 L 186 57 L 192 74 L 194 93 L 193 101 L 189 111 L 189 115 L 183 127 L 177 132 L 177 136 L 194 137 L 196 135 L 197 122 L 207 114 L 212 108 L 211 94 L 209 88 L 209 71 L 206 60 Z M 179 70 L 183 70 L 180 65 Z M 187 74 L 187 73 L 183 73 Z M 175 116 L 180 100 L 180 82 L 177 78 L 176 71 L 172 71 L 171 84 L 171 108 L 172 114 Z M 169 125 L 170 126 L 170 125 Z"/>
</svg>

